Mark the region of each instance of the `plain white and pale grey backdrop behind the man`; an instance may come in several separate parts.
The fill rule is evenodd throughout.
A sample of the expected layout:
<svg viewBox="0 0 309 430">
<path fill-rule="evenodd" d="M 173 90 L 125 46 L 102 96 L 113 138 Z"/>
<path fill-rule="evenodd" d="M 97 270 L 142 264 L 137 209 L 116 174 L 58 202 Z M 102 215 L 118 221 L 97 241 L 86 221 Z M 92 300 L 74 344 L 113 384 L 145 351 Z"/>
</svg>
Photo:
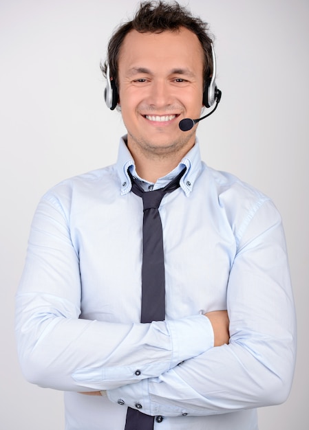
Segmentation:
<svg viewBox="0 0 309 430">
<path fill-rule="evenodd" d="M 273 198 L 284 219 L 297 304 L 295 382 L 260 430 L 308 429 L 308 0 L 188 0 L 215 34 L 222 101 L 200 123 L 209 166 Z M 99 62 L 135 0 L 0 0 L 1 415 L 6 430 L 63 429 L 62 393 L 24 381 L 14 293 L 32 215 L 52 185 L 113 163 L 120 114 L 103 102 Z M 111 429 L 112 430 L 112 429 Z"/>
</svg>

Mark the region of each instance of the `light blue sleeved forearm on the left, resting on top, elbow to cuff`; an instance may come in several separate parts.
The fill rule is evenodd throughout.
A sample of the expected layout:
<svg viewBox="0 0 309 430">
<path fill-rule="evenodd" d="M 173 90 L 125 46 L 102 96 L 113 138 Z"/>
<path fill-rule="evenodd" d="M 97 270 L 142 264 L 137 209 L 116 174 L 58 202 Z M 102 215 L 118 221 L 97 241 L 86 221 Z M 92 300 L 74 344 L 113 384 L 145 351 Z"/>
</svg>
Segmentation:
<svg viewBox="0 0 309 430">
<path fill-rule="evenodd" d="M 83 391 L 159 376 L 210 348 L 213 335 L 202 315 L 152 324 L 88 321 L 56 297 L 19 295 L 17 340 L 28 380 Z"/>
</svg>

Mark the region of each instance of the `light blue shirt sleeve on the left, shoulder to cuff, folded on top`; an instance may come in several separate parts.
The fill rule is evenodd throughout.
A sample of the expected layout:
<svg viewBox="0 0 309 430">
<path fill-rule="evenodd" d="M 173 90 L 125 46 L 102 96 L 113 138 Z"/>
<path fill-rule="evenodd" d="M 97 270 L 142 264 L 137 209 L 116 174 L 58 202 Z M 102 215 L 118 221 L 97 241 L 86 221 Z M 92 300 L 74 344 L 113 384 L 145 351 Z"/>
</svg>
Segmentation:
<svg viewBox="0 0 309 430">
<path fill-rule="evenodd" d="M 110 389 L 160 376 L 213 346 L 203 315 L 151 324 L 90 321 L 80 318 L 81 295 L 70 222 L 45 196 L 16 297 L 18 353 L 28 381 L 67 391 Z"/>
</svg>

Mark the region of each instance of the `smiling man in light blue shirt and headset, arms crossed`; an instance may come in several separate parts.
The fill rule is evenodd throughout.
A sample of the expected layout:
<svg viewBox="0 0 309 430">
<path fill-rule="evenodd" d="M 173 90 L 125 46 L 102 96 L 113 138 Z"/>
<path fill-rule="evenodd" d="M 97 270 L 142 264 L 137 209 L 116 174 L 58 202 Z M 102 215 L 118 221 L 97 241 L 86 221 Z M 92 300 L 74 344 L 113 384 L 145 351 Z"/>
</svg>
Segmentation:
<svg viewBox="0 0 309 430">
<path fill-rule="evenodd" d="M 145 430 L 132 410 L 154 429 L 257 429 L 256 408 L 290 391 L 281 218 L 262 193 L 202 163 L 196 124 L 179 127 L 206 104 L 212 54 L 200 19 L 178 3 L 142 3 L 109 43 L 106 96 L 127 128 L 117 163 L 56 185 L 36 210 L 17 293 L 19 357 L 30 382 L 65 391 L 66 429 Z M 153 192 L 178 175 L 159 208 L 165 319 L 140 322 L 143 215 L 132 187 Z"/>
</svg>

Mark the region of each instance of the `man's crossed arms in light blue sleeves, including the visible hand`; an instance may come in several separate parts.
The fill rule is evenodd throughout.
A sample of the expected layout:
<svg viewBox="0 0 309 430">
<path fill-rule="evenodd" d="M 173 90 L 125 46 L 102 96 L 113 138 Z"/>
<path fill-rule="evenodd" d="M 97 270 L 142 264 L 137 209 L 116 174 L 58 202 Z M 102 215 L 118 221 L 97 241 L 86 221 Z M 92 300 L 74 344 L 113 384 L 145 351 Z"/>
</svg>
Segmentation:
<svg viewBox="0 0 309 430">
<path fill-rule="evenodd" d="M 152 400 L 144 408 L 150 415 L 176 416 L 184 398 L 193 415 L 281 403 L 295 363 L 283 237 L 277 211 L 266 203 L 239 245 L 228 278 L 227 312 L 151 324 L 132 324 L 121 315 L 118 322 L 90 319 L 85 310 L 81 318 L 81 256 L 63 211 L 54 199 L 44 199 L 17 294 L 26 378 L 72 392 L 107 390 L 109 400 L 125 397 L 131 407 L 147 395 L 156 399 L 156 411 Z"/>
</svg>

